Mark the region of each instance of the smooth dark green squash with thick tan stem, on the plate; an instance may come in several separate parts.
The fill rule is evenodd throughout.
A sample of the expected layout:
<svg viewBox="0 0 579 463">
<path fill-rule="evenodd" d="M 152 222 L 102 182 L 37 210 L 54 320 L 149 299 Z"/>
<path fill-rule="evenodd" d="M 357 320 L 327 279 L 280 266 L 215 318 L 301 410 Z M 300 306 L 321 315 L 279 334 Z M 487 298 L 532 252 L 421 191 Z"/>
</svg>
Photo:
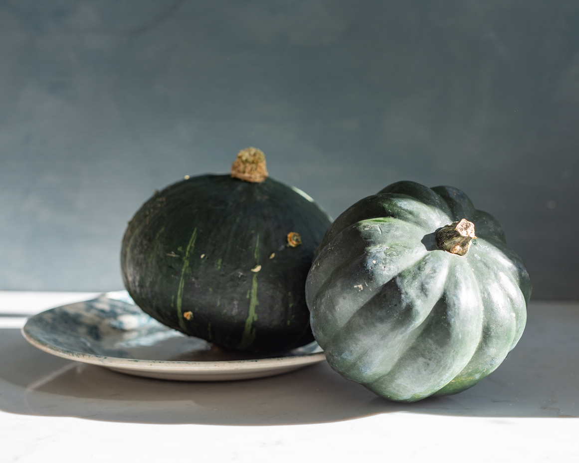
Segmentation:
<svg viewBox="0 0 579 463">
<path fill-rule="evenodd" d="M 305 281 L 331 219 L 242 150 L 232 175 L 186 177 L 146 201 L 124 233 L 124 285 L 151 317 L 222 347 L 313 341 Z"/>
</svg>

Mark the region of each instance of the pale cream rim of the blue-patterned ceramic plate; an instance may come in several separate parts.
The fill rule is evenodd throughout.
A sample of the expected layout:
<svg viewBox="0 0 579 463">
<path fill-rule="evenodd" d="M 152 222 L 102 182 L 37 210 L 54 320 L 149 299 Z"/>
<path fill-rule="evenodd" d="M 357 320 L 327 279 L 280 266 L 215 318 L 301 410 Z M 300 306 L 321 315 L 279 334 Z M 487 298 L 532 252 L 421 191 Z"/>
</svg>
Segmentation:
<svg viewBox="0 0 579 463">
<path fill-rule="evenodd" d="M 81 302 L 91 302 L 92 300 L 97 300 L 100 298 L 90 299 Z M 115 300 L 112 298 L 106 298 L 109 300 Z M 74 303 L 78 304 L 78 303 Z M 325 359 L 325 352 L 310 352 L 307 354 L 291 355 L 290 357 L 266 357 L 266 358 L 256 358 L 256 359 L 243 359 L 243 360 L 216 360 L 216 361 L 178 361 L 178 360 L 147 360 L 147 359 L 130 359 L 123 357 L 108 357 L 105 355 L 89 354 L 87 352 L 78 352 L 66 350 L 54 345 L 48 345 L 42 341 L 36 339 L 29 332 L 27 332 L 27 326 L 32 319 L 39 317 L 47 312 L 71 306 L 74 304 L 64 304 L 63 306 L 53 307 L 48 310 L 42 311 L 38 314 L 32 315 L 28 318 L 24 326 L 20 329 L 22 336 L 28 341 L 32 346 L 40 349 L 41 351 L 47 352 L 47 354 L 56 355 L 57 357 L 66 358 L 76 362 L 90 363 L 92 365 L 100 366 L 111 366 L 116 368 L 123 368 L 129 370 L 155 370 L 175 372 L 176 370 L 180 372 L 205 372 L 205 373 L 217 373 L 230 372 L 232 370 L 261 370 L 261 369 L 271 369 L 271 368 L 283 368 L 285 366 L 291 365 L 309 365 L 311 363 L 321 362 Z M 305 344 L 307 346 L 307 344 Z M 299 348 L 299 347 L 298 347 Z"/>
</svg>

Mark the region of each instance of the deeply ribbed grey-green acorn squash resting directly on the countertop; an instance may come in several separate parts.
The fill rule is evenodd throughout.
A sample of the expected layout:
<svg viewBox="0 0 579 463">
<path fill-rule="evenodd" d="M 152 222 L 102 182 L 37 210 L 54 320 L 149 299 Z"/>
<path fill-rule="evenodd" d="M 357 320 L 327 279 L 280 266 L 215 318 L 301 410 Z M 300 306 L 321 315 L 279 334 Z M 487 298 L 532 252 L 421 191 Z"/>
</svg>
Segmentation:
<svg viewBox="0 0 579 463">
<path fill-rule="evenodd" d="M 449 186 L 398 182 L 325 234 L 306 282 L 329 364 L 391 400 L 455 394 L 522 335 L 531 283 L 499 222 Z"/>
</svg>

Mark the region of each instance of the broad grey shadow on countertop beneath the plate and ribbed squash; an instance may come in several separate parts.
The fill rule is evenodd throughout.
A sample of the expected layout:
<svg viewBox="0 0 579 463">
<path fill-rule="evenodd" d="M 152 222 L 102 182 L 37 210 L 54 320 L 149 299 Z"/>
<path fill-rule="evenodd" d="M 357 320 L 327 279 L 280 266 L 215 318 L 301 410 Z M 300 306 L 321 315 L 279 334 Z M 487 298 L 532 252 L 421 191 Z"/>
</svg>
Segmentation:
<svg viewBox="0 0 579 463">
<path fill-rule="evenodd" d="M 378 398 L 326 362 L 257 380 L 189 383 L 133 377 L 53 357 L 0 330 L 0 410 L 159 424 L 287 425 L 406 411 L 447 416 L 578 417 L 579 304 L 532 303 L 503 365 L 460 394 Z"/>
</svg>

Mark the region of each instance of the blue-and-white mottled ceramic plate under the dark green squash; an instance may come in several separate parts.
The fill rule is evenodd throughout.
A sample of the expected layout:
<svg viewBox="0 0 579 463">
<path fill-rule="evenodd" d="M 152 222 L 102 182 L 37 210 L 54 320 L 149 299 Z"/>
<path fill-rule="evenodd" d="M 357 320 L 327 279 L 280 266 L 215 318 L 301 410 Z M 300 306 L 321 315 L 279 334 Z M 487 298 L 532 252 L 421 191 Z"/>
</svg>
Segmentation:
<svg viewBox="0 0 579 463">
<path fill-rule="evenodd" d="M 325 359 L 316 342 L 260 356 L 228 351 L 160 324 L 126 291 L 56 307 L 28 319 L 33 346 L 122 373 L 182 381 L 230 381 L 273 376 Z"/>
</svg>

